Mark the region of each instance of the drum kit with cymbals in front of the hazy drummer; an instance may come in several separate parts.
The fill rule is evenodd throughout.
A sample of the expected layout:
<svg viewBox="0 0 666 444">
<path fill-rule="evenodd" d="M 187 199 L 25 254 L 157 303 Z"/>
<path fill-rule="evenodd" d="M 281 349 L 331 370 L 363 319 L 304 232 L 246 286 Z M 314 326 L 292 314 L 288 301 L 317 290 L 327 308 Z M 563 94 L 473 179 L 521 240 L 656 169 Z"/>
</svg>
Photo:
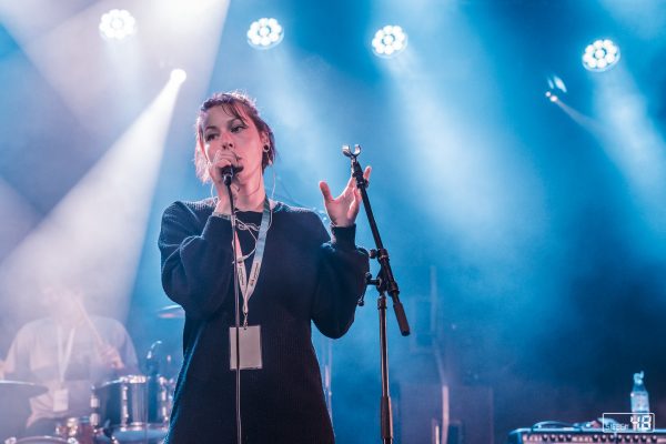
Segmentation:
<svg viewBox="0 0 666 444">
<path fill-rule="evenodd" d="M 165 306 L 157 314 L 160 319 L 184 317 L 184 312 L 179 305 Z M 52 435 L 12 436 L 6 438 L 4 444 L 162 443 L 169 427 L 175 381 L 174 377 L 165 377 L 159 372 L 159 363 L 154 357 L 159 345 L 160 341 L 153 343 L 148 353 L 148 375 L 125 375 L 93 386 L 89 415 L 63 418 L 58 422 Z M 46 386 L 29 382 L 0 381 L 0 400 L 11 400 L 13 404 L 10 406 L 10 403 L 7 403 L 0 408 L 0 418 L 9 421 L 12 410 L 13 416 L 17 416 L 16 411 L 21 410 L 17 406 L 27 406 L 30 397 L 47 391 Z M 7 435 L 9 430 L 7 424 L 0 422 L 0 440 L 4 438 L 2 435 Z M 11 428 L 9 433 L 19 435 L 16 428 Z"/>
</svg>

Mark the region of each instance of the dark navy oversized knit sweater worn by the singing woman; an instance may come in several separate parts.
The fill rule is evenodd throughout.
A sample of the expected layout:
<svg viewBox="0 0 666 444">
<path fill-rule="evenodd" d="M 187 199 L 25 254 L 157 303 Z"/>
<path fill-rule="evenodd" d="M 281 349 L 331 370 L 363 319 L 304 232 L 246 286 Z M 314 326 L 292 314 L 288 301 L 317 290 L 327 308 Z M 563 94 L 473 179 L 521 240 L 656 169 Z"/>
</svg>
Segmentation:
<svg viewBox="0 0 666 444">
<path fill-rule="evenodd" d="M 213 216 L 212 199 L 175 202 L 162 218 L 162 285 L 185 311 L 184 361 L 167 443 L 235 443 L 235 372 L 229 329 L 234 325 L 231 223 Z M 239 212 L 259 226 L 261 213 Z M 311 320 L 342 336 L 364 291 L 367 254 L 355 228 L 333 228 L 311 211 L 276 203 L 249 324 L 261 325 L 261 370 L 241 371 L 244 443 L 333 443 Z M 256 232 L 254 232 L 256 235 Z M 254 248 L 248 231 L 241 249 Z M 249 268 L 253 256 L 245 261 Z"/>
</svg>

